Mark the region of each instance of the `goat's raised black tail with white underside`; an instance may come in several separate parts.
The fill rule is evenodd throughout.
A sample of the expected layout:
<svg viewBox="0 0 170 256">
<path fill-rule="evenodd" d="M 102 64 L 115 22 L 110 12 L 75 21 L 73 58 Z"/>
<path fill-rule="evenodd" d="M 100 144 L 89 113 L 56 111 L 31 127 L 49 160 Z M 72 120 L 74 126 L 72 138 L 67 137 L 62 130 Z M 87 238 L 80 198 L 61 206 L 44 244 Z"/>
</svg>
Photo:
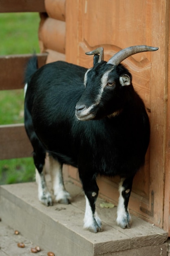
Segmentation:
<svg viewBox="0 0 170 256">
<path fill-rule="evenodd" d="M 28 61 L 27 66 L 26 66 L 26 70 L 25 70 L 25 74 L 24 74 L 24 97 L 26 94 L 26 90 L 27 90 L 27 86 L 28 86 L 28 82 L 29 79 L 31 79 L 31 76 L 35 73 L 35 71 L 38 70 L 38 58 L 37 56 L 34 54 Z"/>
</svg>

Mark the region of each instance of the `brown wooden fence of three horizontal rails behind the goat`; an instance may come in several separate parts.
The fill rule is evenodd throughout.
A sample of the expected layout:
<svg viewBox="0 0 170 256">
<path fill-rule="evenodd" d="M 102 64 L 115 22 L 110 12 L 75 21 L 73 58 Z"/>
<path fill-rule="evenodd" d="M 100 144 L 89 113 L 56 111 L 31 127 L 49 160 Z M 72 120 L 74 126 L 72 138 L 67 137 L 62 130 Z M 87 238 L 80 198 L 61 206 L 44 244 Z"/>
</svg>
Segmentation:
<svg viewBox="0 0 170 256">
<path fill-rule="evenodd" d="M 0 0 L 0 13 L 4 12 L 45 12 L 44 0 Z M 46 63 L 47 54 L 37 55 L 40 67 Z M 31 54 L 0 56 L 0 90 L 24 88 L 24 70 L 30 57 Z M 24 124 L 0 125 L 0 159 L 28 157 L 31 152 Z"/>
</svg>

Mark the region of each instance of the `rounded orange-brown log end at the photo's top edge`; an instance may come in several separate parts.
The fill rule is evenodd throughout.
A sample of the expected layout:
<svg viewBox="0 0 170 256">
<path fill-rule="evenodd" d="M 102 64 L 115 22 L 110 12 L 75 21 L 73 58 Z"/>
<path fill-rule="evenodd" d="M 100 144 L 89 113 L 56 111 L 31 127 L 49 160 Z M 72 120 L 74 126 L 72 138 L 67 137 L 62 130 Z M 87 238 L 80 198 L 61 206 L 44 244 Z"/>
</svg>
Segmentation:
<svg viewBox="0 0 170 256">
<path fill-rule="evenodd" d="M 45 0 L 45 9 L 49 17 L 65 21 L 65 0 Z"/>
</svg>

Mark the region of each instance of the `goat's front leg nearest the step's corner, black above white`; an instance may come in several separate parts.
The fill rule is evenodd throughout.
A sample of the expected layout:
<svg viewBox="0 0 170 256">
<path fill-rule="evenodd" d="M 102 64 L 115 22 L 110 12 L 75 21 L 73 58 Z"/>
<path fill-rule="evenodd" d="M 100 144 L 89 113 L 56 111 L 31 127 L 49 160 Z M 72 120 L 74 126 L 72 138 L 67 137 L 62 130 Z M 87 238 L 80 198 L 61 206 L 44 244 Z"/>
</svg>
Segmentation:
<svg viewBox="0 0 170 256">
<path fill-rule="evenodd" d="M 99 188 L 96 181 L 91 177 L 88 177 L 88 179 L 87 177 L 85 179 L 81 178 L 81 180 L 86 198 L 84 228 L 97 233 L 97 231 L 102 231 L 102 222 L 95 210 L 95 202 L 97 200 Z"/>
</svg>

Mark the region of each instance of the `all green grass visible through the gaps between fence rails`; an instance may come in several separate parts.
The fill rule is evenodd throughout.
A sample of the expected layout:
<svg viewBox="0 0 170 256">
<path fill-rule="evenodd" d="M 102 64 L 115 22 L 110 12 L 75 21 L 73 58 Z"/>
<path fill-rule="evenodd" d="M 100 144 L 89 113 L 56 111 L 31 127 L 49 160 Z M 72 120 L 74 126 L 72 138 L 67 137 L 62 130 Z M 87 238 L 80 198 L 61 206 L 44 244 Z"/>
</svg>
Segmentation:
<svg viewBox="0 0 170 256">
<path fill-rule="evenodd" d="M 40 52 L 38 13 L 0 13 L 0 55 Z M 23 90 L 0 91 L 0 124 L 23 123 Z M 32 158 L 0 161 L 0 184 L 34 181 Z"/>
</svg>

